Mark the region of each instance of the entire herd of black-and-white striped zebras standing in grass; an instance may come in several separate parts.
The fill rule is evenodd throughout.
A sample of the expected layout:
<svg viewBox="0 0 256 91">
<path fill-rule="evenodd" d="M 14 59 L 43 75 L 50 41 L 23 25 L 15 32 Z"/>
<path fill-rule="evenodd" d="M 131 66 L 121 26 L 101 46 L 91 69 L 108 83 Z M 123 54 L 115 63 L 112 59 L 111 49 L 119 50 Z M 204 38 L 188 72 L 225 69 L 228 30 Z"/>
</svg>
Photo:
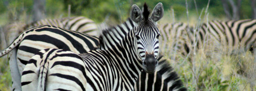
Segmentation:
<svg viewBox="0 0 256 91">
<path fill-rule="evenodd" d="M 194 32 L 184 23 L 157 25 L 162 3 L 149 15 L 146 4 L 142 11 L 133 5 L 127 21 L 99 37 L 93 36 L 97 26 L 84 17 L 25 25 L 19 30 L 30 29 L 0 54 L 11 52 L 13 90 L 186 90 L 161 58 L 169 39 L 176 42 L 170 47 L 184 55 L 193 51 L 193 37 L 200 49 L 207 34 L 231 49 L 253 48 L 255 53 L 256 20 L 210 21 Z"/>
</svg>

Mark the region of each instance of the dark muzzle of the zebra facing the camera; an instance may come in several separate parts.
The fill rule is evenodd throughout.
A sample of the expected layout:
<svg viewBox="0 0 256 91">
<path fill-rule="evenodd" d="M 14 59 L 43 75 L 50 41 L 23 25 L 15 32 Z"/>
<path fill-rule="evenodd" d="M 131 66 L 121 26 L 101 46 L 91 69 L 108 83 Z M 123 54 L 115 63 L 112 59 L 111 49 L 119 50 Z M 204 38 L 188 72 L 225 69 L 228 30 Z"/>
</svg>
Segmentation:
<svg viewBox="0 0 256 91">
<path fill-rule="evenodd" d="M 155 67 L 158 66 L 158 60 L 154 57 L 154 54 L 146 54 L 146 58 L 143 62 L 144 71 L 147 73 L 154 73 Z"/>
</svg>

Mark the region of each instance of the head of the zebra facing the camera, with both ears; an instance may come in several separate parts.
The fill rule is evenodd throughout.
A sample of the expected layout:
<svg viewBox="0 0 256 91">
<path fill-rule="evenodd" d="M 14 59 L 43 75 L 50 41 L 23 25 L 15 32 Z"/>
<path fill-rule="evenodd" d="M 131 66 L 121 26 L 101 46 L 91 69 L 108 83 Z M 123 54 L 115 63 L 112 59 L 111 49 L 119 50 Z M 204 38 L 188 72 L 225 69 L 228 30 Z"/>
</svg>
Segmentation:
<svg viewBox="0 0 256 91">
<path fill-rule="evenodd" d="M 143 62 L 143 69 L 148 73 L 153 73 L 158 65 L 159 57 L 159 36 L 157 21 L 163 16 L 162 3 L 158 3 L 149 17 L 150 11 L 146 3 L 144 4 L 143 13 L 137 5 L 132 5 L 130 17 L 138 25 L 133 27 L 134 41 L 137 47 L 138 57 Z"/>
</svg>

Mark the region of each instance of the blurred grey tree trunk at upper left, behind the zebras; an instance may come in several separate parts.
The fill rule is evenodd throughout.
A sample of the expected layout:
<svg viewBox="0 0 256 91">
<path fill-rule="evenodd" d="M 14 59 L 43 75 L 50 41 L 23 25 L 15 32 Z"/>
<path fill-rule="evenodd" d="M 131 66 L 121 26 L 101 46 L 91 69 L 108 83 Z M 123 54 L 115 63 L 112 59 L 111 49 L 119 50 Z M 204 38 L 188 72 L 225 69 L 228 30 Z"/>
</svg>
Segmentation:
<svg viewBox="0 0 256 91">
<path fill-rule="evenodd" d="M 45 0 L 34 0 L 33 21 L 44 19 L 45 17 Z"/>
</svg>

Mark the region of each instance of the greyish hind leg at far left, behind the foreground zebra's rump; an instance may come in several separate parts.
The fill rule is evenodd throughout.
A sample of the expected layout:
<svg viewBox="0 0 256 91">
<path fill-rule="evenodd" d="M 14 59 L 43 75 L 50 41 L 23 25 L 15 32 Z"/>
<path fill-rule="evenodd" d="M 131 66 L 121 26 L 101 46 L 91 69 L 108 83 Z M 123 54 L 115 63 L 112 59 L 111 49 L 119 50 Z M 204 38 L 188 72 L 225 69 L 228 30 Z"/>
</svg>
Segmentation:
<svg viewBox="0 0 256 91">
<path fill-rule="evenodd" d="M 9 60 L 11 78 L 12 78 L 12 90 L 22 90 L 22 86 L 20 85 L 21 75 L 19 73 L 18 65 L 16 62 L 16 56 L 17 56 L 16 51 L 17 51 L 17 48 L 13 49 L 10 52 L 10 60 Z"/>
</svg>

